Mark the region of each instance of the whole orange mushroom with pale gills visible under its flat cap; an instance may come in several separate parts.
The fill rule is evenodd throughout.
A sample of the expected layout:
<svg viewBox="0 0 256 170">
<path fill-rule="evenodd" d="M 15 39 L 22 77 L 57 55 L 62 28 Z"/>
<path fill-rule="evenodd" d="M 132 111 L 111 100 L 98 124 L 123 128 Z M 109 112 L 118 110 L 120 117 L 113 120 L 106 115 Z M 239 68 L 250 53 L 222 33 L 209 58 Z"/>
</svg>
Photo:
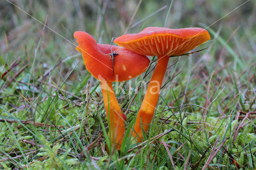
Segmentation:
<svg viewBox="0 0 256 170">
<path fill-rule="evenodd" d="M 121 47 L 136 53 L 158 56 L 156 69 L 150 79 L 134 125 L 133 136 L 137 136 L 138 142 L 143 140 L 140 119 L 146 132 L 154 115 L 170 55 L 182 55 L 207 40 L 210 40 L 210 35 L 202 28 L 169 29 L 159 27 L 148 27 L 138 34 L 126 34 L 114 40 Z"/>
</svg>

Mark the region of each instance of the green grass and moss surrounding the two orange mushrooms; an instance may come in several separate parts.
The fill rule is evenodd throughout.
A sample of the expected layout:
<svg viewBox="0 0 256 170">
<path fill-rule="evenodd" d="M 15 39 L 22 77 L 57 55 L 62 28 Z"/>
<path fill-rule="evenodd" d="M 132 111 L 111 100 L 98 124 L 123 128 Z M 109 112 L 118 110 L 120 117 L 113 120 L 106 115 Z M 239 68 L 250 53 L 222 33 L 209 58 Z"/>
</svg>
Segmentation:
<svg viewBox="0 0 256 170">
<path fill-rule="evenodd" d="M 150 0 L 142 1 L 136 14 L 139 1 L 11 2 L 52 30 L 1 2 L 1 169 L 202 169 L 206 162 L 208 169 L 255 169 L 254 1 L 234 10 L 243 2 L 174 0 L 170 6 L 171 1 Z M 127 121 L 120 153 L 108 155 L 99 81 L 86 71 L 72 35 L 86 31 L 97 42 L 110 43 L 125 31 L 164 25 L 211 25 L 212 39 L 190 57 L 170 58 L 169 66 L 177 62 L 166 71 L 142 144 L 129 130 L 155 58 L 142 75 L 113 83 Z"/>
</svg>

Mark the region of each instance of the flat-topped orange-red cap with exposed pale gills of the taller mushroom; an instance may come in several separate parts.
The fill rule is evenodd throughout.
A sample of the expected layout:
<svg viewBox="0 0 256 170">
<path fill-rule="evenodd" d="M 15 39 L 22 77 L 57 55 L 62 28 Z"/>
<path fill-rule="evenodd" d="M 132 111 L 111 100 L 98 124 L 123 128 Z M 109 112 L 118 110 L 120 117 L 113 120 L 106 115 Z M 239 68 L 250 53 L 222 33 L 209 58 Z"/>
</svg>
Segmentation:
<svg viewBox="0 0 256 170">
<path fill-rule="evenodd" d="M 148 27 L 138 34 L 125 34 L 114 40 L 142 55 L 181 55 L 210 40 L 209 33 L 202 28 L 169 29 Z"/>
</svg>

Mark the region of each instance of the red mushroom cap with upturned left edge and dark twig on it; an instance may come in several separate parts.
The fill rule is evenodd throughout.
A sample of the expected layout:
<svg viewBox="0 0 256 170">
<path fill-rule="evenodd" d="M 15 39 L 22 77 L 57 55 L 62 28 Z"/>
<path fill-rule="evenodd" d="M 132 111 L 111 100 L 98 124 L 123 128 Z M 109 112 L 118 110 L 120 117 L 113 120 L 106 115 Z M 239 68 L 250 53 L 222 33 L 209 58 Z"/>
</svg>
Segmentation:
<svg viewBox="0 0 256 170">
<path fill-rule="evenodd" d="M 111 48 L 118 55 L 113 61 L 110 57 L 110 45 L 97 44 L 86 32 L 77 31 L 74 38 L 78 42 L 76 49 L 82 53 L 86 69 L 100 81 L 126 81 L 146 71 L 149 65 L 150 60 L 145 55 L 115 45 Z"/>
</svg>

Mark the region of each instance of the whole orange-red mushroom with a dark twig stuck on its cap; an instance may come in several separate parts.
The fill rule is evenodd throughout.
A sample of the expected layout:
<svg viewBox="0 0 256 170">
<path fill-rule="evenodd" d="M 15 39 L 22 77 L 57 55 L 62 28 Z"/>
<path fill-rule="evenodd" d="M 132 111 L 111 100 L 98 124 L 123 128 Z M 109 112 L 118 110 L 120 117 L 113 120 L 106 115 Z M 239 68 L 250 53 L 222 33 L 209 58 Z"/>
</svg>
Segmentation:
<svg viewBox="0 0 256 170">
<path fill-rule="evenodd" d="M 110 45 L 97 44 L 86 32 L 75 32 L 74 38 L 78 42 L 76 49 L 82 53 L 86 69 L 100 81 L 109 123 L 108 134 L 111 135 L 114 147 L 120 149 L 124 135 L 124 121 L 112 82 L 126 81 L 140 75 L 148 67 L 150 60 L 145 55 L 114 45 L 111 46 L 114 51 L 112 53 Z"/>
</svg>

